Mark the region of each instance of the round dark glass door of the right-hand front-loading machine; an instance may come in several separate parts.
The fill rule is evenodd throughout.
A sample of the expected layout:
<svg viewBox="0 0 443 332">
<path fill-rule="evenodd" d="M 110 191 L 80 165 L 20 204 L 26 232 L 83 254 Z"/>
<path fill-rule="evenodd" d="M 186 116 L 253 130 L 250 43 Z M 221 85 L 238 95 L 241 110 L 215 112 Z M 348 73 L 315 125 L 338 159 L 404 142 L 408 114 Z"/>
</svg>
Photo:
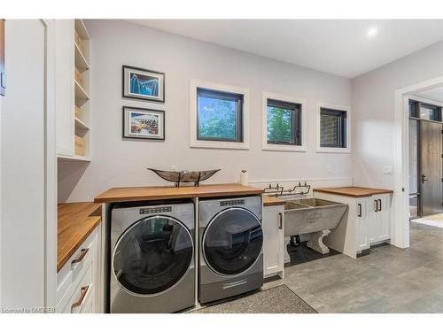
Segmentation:
<svg viewBox="0 0 443 332">
<path fill-rule="evenodd" d="M 206 227 L 203 252 L 207 266 L 218 274 L 241 274 L 260 257 L 260 220 L 248 210 L 233 207 L 219 212 Z"/>
</svg>

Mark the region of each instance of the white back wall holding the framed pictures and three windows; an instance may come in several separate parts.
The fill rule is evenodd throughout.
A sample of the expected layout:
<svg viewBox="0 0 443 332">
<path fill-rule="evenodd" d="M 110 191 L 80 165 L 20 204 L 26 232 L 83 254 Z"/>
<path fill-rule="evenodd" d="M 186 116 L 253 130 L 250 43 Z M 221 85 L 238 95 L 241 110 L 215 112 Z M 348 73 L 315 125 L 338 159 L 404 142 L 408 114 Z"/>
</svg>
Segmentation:
<svg viewBox="0 0 443 332">
<path fill-rule="evenodd" d="M 315 153 L 315 102 L 351 104 L 351 81 L 118 20 L 86 22 L 92 39 L 92 162 L 59 163 L 59 201 L 90 200 L 116 186 L 165 184 L 146 167 L 221 168 L 211 182 L 352 178 L 349 154 Z M 121 98 L 121 66 L 166 73 L 166 103 Z M 251 90 L 250 150 L 190 149 L 190 79 Z M 307 153 L 261 151 L 261 93 L 307 99 Z M 166 141 L 121 138 L 121 106 L 166 111 Z M 330 174 L 327 169 L 330 166 Z M 79 180 L 80 179 L 80 180 Z"/>
</svg>

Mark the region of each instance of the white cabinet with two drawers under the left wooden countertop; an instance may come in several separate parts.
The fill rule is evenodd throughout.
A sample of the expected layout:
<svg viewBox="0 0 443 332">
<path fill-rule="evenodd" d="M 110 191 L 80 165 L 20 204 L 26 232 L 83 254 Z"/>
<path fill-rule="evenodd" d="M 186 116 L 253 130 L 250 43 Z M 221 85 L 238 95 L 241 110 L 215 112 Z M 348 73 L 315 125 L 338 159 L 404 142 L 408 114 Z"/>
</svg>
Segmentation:
<svg viewBox="0 0 443 332">
<path fill-rule="evenodd" d="M 97 313 L 99 231 L 94 229 L 58 271 L 57 313 Z"/>
</svg>

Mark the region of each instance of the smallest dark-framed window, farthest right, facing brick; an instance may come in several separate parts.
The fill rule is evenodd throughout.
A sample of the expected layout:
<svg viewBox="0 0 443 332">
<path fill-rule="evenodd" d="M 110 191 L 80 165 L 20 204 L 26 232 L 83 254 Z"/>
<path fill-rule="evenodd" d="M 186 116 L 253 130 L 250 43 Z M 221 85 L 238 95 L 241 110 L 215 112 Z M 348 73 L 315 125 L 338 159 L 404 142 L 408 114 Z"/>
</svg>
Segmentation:
<svg viewBox="0 0 443 332">
<path fill-rule="evenodd" d="M 346 111 L 320 109 L 320 146 L 346 148 Z"/>
</svg>

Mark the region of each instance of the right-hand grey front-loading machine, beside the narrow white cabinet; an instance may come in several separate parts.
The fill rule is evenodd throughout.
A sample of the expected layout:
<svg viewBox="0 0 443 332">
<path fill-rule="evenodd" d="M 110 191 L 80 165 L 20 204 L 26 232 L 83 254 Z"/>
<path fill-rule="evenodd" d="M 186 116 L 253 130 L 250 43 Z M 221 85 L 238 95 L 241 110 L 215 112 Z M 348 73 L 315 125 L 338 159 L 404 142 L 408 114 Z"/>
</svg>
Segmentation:
<svg viewBox="0 0 443 332">
<path fill-rule="evenodd" d="M 263 285 L 261 197 L 198 203 L 198 300 L 205 304 Z"/>
</svg>

